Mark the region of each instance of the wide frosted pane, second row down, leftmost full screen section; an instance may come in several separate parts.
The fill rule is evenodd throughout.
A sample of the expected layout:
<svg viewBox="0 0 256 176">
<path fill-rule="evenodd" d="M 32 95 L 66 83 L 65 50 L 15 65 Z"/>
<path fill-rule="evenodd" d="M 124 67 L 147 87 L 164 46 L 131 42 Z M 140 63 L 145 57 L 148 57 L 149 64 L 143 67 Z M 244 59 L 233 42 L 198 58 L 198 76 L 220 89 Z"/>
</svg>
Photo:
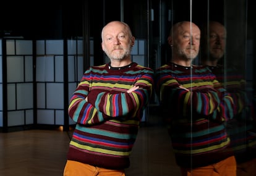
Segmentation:
<svg viewBox="0 0 256 176">
<path fill-rule="evenodd" d="M 22 56 L 7 56 L 7 82 L 24 82 L 24 62 Z"/>
</svg>

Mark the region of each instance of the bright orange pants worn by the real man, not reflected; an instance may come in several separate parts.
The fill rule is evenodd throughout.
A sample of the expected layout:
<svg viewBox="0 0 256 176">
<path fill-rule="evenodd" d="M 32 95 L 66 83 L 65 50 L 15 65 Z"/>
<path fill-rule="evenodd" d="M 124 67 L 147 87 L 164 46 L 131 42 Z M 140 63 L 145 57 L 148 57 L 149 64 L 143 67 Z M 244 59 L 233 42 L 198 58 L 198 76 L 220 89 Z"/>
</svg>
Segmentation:
<svg viewBox="0 0 256 176">
<path fill-rule="evenodd" d="M 64 176 L 125 176 L 124 170 L 111 170 L 95 167 L 77 161 L 67 160 L 64 168 Z"/>
</svg>

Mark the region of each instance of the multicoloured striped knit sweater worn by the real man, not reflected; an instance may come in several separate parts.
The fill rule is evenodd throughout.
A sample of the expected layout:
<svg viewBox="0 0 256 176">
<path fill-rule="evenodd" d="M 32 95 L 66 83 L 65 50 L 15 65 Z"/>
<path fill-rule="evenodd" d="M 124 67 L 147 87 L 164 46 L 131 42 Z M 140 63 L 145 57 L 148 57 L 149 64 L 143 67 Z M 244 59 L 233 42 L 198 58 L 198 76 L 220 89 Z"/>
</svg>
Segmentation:
<svg viewBox="0 0 256 176">
<path fill-rule="evenodd" d="M 132 93 L 126 91 L 139 86 Z M 136 63 L 91 67 L 70 99 L 77 125 L 67 159 L 108 169 L 129 167 L 129 154 L 153 86 L 153 70 Z M 88 99 L 88 100 L 87 100 Z"/>
</svg>

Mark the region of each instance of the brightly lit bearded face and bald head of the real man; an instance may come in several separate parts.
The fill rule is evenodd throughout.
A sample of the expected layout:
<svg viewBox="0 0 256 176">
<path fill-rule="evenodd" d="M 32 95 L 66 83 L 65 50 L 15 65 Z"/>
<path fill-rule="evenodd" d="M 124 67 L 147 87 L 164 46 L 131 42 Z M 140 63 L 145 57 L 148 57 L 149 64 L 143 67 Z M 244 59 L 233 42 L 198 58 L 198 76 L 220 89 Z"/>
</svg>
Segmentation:
<svg viewBox="0 0 256 176">
<path fill-rule="evenodd" d="M 120 23 L 111 23 L 103 30 L 101 46 L 109 59 L 121 60 L 129 56 L 132 42 L 129 31 Z"/>
</svg>

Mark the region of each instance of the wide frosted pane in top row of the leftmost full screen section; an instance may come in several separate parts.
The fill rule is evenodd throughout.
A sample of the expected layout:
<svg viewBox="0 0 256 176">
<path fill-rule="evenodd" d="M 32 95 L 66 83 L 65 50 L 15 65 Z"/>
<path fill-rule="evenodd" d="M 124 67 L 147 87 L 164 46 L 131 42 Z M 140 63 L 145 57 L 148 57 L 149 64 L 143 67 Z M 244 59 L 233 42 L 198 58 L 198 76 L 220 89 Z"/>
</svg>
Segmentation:
<svg viewBox="0 0 256 176">
<path fill-rule="evenodd" d="M 33 43 L 31 40 L 16 40 L 17 55 L 32 55 Z"/>
</svg>

